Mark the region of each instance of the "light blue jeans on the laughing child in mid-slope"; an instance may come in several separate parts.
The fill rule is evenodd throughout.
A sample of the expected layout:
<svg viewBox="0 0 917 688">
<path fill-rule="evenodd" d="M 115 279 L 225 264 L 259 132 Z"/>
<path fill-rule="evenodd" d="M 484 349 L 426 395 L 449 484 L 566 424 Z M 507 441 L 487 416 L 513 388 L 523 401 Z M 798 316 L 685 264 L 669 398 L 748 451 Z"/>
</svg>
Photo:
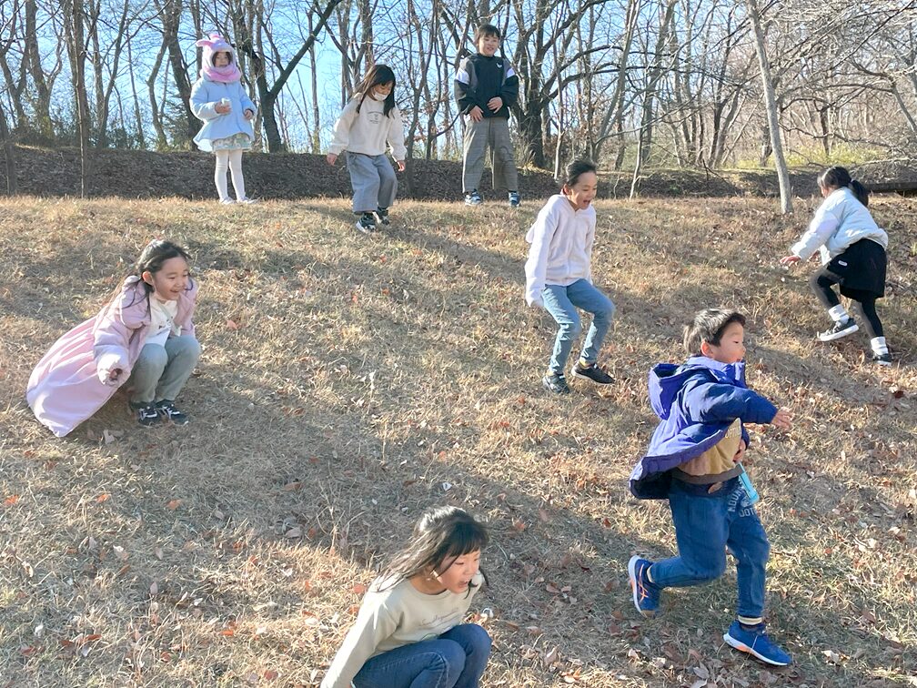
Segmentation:
<svg viewBox="0 0 917 688">
<path fill-rule="evenodd" d="M 569 286 L 547 284 L 541 291 L 541 297 L 545 301 L 547 312 L 560 326 L 558 336 L 554 340 L 554 351 L 551 353 L 548 369 L 555 375 L 564 372 L 570 350 L 573 349 L 573 340 L 582 332 L 577 308 L 592 314 L 592 324 L 586 334 L 586 341 L 582 344 L 580 358 L 587 363 L 598 361 L 602 341 L 612 325 L 612 300 L 586 280 L 577 280 Z"/>
</svg>

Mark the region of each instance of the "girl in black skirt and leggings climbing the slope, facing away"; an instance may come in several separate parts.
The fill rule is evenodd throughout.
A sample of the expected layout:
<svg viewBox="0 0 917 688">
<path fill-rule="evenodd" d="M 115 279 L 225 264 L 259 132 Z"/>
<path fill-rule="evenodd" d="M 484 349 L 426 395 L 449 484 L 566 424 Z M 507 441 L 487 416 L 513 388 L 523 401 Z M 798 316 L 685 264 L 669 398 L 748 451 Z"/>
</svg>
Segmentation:
<svg viewBox="0 0 917 688">
<path fill-rule="evenodd" d="M 815 211 L 812 223 L 793 244 L 790 255 L 781 265 L 792 265 L 809 259 L 819 250 L 823 268 L 812 275 L 810 284 L 834 326 L 819 333 L 822 341 L 833 341 L 859 329 L 847 314 L 832 287 L 854 302 L 856 316 L 861 318 L 869 336 L 872 360 L 891 365 L 882 323 L 876 313 L 876 299 L 885 295 L 885 272 L 888 259 L 885 250 L 889 236 L 878 227 L 867 210 L 869 192 L 854 181 L 843 167 L 825 170 L 818 178 L 824 201 Z"/>
</svg>

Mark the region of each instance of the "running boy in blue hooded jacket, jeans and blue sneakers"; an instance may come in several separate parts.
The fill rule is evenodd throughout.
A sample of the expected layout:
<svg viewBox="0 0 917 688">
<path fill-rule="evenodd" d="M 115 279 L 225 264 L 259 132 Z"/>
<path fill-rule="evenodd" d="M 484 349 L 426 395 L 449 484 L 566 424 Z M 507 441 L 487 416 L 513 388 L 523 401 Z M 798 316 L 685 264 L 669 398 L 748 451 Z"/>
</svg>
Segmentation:
<svg viewBox="0 0 917 688">
<path fill-rule="evenodd" d="M 649 374 L 649 397 L 661 422 L 646 456 L 631 473 L 638 499 L 667 499 L 679 556 L 627 564 L 634 605 L 654 616 L 667 587 L 716 580 L 726 568 L 725 549 L 736 560 L 738 614 L 723 639 L 758 660 L 784 666 L 790 655 L 765 633 L 768 536 L 753 504 L 757 494 L 739 461 L 748 446 L 743 423 L 789 430 L 791 416 L 745 383 L 745 316 L 708 308 L 685 327 L 691 358 L 659 363 Z"/>
</svg>

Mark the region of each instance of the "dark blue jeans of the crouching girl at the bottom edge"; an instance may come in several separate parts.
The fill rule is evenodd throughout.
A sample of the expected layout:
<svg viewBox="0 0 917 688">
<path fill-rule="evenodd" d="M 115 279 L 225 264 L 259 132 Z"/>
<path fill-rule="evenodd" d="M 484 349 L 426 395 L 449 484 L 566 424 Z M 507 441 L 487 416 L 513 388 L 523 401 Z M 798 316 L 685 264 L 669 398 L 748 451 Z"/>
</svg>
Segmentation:
<svg viewBox="0 0 917 688">
<path fill-rule="evenodd" d="M 353 683 L 357 688 L 477 688 L 490 655 L 487 631 L 462 624 L 433 640 L 376 655 Z"/>
</svg>

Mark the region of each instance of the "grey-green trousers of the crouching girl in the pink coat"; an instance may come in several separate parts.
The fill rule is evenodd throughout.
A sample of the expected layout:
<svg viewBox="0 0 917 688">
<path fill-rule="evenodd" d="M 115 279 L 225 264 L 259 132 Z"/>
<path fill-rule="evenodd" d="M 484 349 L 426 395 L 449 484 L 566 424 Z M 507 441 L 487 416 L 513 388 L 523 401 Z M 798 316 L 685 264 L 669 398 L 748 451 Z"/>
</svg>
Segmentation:
<svg viewBox="0 0 917 688">
<path fill-rule="evenodd" d="M 175 401 L 200 357 L 201 345 L 191 335 L 170 337 L 164 346 L 145 344 L 128 381 L 131 404 Z"/>
</svg>

